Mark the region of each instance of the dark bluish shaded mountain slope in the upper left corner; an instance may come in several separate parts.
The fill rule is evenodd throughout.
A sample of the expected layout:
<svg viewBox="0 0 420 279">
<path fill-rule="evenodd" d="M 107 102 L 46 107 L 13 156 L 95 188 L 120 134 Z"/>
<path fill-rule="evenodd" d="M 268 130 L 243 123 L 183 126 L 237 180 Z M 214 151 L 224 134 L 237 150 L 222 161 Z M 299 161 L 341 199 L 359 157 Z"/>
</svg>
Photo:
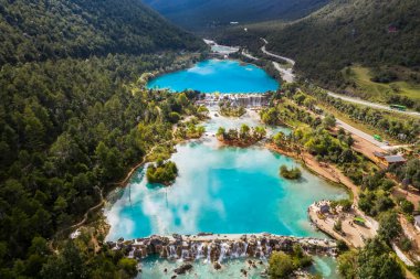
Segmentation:
<svg viewBox="0 0 420 279">
<path fill-rule="evenodd" d="M 0 64 L 200 46 L 139 0 L 0 0 Z"/>
</svg>

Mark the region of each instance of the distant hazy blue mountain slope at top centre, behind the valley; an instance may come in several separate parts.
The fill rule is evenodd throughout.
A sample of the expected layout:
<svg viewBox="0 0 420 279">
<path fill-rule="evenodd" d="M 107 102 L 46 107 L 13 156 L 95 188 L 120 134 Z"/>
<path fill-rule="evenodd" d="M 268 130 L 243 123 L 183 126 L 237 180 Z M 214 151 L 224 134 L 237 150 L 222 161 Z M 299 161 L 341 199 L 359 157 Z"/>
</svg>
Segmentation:
<svg viewBox="0 0 420 279">
<path fill-rule="evenodd" d="M 256 22 L 295 19 L 308 14 L 328 0 L 144 0 L 175 23 L 201 30 L 231 21 Z"/>
</svg>

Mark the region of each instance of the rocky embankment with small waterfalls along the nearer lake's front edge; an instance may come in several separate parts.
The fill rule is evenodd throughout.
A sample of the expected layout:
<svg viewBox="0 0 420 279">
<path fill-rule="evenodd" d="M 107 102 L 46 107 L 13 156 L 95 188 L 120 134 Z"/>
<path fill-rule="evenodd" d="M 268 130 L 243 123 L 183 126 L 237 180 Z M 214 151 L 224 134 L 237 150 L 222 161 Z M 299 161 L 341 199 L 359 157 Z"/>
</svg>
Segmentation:
<svg viewBox="0 0 420 279">
<path fill-rule="evenodd" d="M 300 245 L 312 255 L 336 255 L 336 243 L 330 239 L 300 238 L 272 234 L 252 235 L 172 235 L 150 236 L 134 240 L 108 242 L 112 249 L 123 250 L 129 258 L 146 258 L 158 255 L 165 259 L 185 261 L 206 259 L 221 262 L 224 259 L 243 257 L 267 258 L 272 251 L 292 251 Z"/>
</svg>

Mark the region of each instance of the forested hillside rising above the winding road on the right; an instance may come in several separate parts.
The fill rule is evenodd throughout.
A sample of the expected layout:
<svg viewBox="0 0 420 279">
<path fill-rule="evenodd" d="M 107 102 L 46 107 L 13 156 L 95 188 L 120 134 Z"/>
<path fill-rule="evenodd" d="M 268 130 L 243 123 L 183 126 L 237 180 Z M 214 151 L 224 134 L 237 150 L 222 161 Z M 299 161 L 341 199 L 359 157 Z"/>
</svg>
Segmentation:
<svg viewBox="0 0 420 279">
<path fill-rule="evenodd" d="M 296 60 L 306 77 L 344 88 L 342 71 L 360 63 L 399 65 L 419 73 L 420 4 L 418 0 L 335 0 L 293 23 L 266 22 L 230 29 L 219 35 L 231 44 L 261 46 Z"/>
</svg>

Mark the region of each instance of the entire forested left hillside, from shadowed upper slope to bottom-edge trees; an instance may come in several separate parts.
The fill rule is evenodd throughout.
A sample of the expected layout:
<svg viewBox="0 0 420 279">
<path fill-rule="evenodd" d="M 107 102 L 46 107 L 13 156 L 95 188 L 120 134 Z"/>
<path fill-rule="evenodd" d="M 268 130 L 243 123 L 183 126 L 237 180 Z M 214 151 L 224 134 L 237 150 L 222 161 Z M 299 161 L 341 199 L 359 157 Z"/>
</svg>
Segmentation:
<svg viewBox="0 0 420 279">
<path fill-rule="evenodd" d="M 137 81 L 206 46 L 136 0 L 1 0 L 0 14 L 0 278 L 135 276 L 90 238 L 49 240 L 195 112 Z"/>
</svg>

